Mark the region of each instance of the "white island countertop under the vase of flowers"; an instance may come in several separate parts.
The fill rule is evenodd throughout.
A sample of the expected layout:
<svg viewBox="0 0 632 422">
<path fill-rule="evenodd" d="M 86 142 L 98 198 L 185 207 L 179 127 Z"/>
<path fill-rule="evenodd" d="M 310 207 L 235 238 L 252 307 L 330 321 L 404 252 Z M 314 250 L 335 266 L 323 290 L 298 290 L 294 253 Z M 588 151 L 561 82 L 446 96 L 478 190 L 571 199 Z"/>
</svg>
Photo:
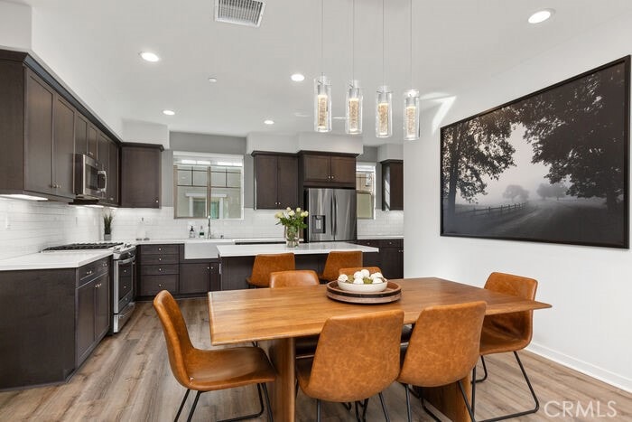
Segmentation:
<svg viewBox="0 0 632 422">
<path fill-rule="evenodd" d="M 288 248 L 285 244 L 262 243 L 257 245 L 218 245 L 219 258 L 254 257 L 259 254 L 280 254 L 293 252 L 295 255 L 328 254 L 332 250 L 361 250 L 362 252 L 379 252 L 379 249 L 356 245 L 347 242 L 312 242 L 301 243 L 296 248 Z"/>
</svg>

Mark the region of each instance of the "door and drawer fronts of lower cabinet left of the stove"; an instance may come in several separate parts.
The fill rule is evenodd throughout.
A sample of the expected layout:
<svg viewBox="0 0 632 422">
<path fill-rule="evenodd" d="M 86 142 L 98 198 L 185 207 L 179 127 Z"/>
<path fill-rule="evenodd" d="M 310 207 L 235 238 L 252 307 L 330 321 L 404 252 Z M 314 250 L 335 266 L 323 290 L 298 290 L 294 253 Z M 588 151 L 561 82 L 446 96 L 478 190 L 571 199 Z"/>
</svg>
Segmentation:
<svg viewBox="0 0 632 422">
<path fill-rule="evenodd" d="M 110 326 L 110 258 L 78 269 L 76 366 L 86 360 Z"/>
</svg>

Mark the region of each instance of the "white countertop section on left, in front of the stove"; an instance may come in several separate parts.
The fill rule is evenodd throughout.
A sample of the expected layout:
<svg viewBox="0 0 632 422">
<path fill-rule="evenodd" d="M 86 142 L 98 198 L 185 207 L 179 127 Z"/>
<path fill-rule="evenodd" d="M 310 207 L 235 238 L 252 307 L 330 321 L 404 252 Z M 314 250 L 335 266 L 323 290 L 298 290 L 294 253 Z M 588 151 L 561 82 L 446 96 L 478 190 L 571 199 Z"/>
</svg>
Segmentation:
<svg viewBox="0 0 632 422">
<path fill-rule="evenodd" d="M 0 271 L 24 269 L 78 268 L 112 255 L 111 250 L 41 252 L 0 260 Z"/>
</svg>

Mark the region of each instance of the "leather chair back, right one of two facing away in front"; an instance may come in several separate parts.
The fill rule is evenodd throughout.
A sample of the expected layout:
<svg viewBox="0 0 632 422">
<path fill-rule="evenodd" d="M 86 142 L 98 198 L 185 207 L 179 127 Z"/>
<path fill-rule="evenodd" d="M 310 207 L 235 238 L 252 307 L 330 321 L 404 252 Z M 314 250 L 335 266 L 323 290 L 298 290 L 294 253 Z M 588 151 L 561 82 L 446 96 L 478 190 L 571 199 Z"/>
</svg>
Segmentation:
<svg viewBox="0 0 632 422">
<path fill-rule="evenodd" d="M 404 357 L 399 381 L 438 387 L 465 378 L 479 359 L 485 302 L 422 310 Z"/>
</svg>

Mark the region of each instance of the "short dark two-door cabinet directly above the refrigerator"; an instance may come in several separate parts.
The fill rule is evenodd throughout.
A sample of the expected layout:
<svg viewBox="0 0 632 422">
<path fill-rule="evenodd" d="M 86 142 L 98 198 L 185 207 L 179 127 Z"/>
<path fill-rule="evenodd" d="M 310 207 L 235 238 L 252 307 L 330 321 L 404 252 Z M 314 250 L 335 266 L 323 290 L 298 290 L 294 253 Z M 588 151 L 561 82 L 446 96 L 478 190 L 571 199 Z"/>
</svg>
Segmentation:
<svg viewBox="0 0 632 422">
<path fill-rule="evenodd" d="M 302 153 L 299 157 L 299 174 L 304 187 L 356 187 L 354 155 Z"/>
</svg>

